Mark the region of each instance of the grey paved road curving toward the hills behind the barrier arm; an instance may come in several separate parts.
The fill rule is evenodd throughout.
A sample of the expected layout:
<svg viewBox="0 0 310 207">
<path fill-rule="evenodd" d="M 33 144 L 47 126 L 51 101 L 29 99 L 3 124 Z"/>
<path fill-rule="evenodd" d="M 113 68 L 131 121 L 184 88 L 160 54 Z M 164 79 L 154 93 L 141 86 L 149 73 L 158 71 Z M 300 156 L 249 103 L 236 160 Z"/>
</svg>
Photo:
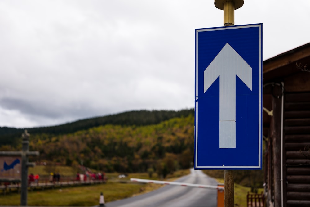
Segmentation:
<svg viewBox="0 0 310 207">
<path fill-rule="evenodd" d="M 215 179 L 200 170 L 191 169 L 191 174 L 175 182 L 217 185 Z M 216 207 L 217 190 L 184 186 L 164 186 L 155 191 L 123 200 L 106 203 L 107 207 Z"/>
</svg>

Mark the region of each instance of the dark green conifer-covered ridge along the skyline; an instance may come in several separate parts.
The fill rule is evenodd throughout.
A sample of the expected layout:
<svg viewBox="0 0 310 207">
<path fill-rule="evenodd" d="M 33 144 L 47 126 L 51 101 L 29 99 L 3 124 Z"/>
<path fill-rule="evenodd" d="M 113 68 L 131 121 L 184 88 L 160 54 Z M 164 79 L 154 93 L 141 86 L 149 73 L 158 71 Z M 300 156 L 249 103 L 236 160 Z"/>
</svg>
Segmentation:
<svg viewBox="0 0 310 207">
<path fill-rule="evenodd" d="M 120 126 L 145 126 L 150 124 L 158 124 L 162 121 L 169 120 L 176 117 L 187 117 L 194 115 L 194 109 L 185 110 L 134 110 L 127 111 L 115 115 L 107 115 L 101 117 L 94 117 L 90 119 L 82 119 L 71 123 L 61 124 L 49 127 L 25 128 L 32 135 L 45 134 L 48 136 L 55 136 L 61 134 L 74 133 L 80 130 L 87 130 L 89 128 L 104 126 L 106 124 L 120 125 Z M 24 132 L 23 128 L 0 127 L 0 146 L 19 144 L 21 134 Z"/>
</svg>

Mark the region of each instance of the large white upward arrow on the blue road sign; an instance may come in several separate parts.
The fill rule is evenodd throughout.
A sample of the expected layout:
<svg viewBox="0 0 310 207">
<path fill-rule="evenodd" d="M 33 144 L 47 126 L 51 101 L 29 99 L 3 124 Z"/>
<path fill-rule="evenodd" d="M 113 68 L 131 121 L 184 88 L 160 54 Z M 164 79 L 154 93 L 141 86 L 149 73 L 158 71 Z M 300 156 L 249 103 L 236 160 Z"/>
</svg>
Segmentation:
<svg viewBox="0 0 310 207">
<path fill-rule="evenodd" d="M 203 74 L 204 93 L 219 77 L 219 148 L 236 148 L 236 75 L 252 90 L 252 68 L 226 43 Z"/>
</svg>

